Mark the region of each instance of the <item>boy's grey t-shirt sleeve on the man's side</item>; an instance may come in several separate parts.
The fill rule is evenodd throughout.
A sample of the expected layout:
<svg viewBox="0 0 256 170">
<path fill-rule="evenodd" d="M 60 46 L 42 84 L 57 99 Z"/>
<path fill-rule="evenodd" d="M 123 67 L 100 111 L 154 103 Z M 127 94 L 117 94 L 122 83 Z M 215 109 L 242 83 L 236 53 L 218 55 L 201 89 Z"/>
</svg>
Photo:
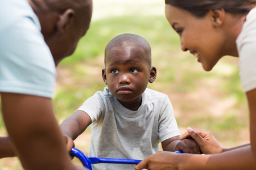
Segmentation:
<svg viewBox="0 0 256 170">
<path fill-rule="evenodd" d="M 90 116 L 92 122 L 103 120 L 105 113 L 104 101 L 101 97 L 101 91 L 96 92 L 93 96 L 89 97 L 85 102 L 79 107 L 78 111 L 84 111 Z"/>
</svg>

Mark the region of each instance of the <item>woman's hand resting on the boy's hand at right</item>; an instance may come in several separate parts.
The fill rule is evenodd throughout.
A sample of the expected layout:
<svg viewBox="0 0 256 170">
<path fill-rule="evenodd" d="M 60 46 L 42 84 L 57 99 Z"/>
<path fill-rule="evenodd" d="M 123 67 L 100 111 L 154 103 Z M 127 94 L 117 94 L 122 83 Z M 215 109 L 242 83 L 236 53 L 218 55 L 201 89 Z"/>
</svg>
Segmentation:
<svg viewBox="0 0 256 170">
<path fill-rule="evenodd" d="M 191 128 L 187 128 L 187 130 L 188 132 L 180 138 L 181 141 L 184 139 L 195 139 L 204 154 L 218 154 L 223 151 L 223 148 L 218 144 L 210 131 Z"/>
</svg>

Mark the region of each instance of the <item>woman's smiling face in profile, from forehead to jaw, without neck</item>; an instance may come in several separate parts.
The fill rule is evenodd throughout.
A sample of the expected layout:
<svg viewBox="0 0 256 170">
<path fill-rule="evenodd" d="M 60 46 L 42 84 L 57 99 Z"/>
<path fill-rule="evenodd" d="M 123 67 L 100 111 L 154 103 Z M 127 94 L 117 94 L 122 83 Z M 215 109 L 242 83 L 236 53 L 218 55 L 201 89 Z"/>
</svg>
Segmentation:
<svg viewBox="0 0 256 170">
<path fill-rule="evenodd" d="M 210 13 L 197 18 L 186 10 L 166 5 L 166 18 L 180 36 L 181 49 L 189 50 L 205 71 L 212 70 L 222 57 L 224 38 L 220 29 L 214 27 Z"/>
</svg>

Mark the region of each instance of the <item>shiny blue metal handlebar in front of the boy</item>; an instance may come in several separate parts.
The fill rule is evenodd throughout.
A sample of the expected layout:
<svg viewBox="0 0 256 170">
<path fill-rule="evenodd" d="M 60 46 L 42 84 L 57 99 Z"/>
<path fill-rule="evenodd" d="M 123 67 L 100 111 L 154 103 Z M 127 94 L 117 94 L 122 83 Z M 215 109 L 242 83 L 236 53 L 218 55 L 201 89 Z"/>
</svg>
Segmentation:
<svg viewBox="0 0 256 170">
<path fill-rule="evenodd" d="M 175 153 L 183 153 L 183 151 L 175 151 Z M 78 150 L 77 148 L 73 147 L 71 150 L 71 155 L 75 156 L 80 160 L 82 165 L 89 170 L 92 170 L 91 164 L 98 164 L 98 163 L 114 163 L 114 164 L 138 164 L 141 160 L 135 159 L 114 159 L 114 158 L 98 158 L 98 157 L 87 157 L 82 151 Z"/>
</svg>

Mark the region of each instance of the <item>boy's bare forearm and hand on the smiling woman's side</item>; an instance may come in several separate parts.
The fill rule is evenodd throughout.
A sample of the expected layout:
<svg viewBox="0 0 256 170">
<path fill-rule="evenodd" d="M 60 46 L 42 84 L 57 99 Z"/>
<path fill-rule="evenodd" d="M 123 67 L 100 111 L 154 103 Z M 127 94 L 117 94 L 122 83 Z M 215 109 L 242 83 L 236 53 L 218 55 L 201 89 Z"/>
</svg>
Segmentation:
<svg viewBox="0 0 256 170">
<path fill-rule="evenodd" d="M 162 147 L 164 151 L 174 152 L 174 151 L 182 150 L 184 153 L 190 153 L 190 154 L 200 153 L 200 147 L 195 142 L 195 140 L 185 139 L 183 141 L 180 141 L 179 136 L 163 141 Z"/>
</svg>

